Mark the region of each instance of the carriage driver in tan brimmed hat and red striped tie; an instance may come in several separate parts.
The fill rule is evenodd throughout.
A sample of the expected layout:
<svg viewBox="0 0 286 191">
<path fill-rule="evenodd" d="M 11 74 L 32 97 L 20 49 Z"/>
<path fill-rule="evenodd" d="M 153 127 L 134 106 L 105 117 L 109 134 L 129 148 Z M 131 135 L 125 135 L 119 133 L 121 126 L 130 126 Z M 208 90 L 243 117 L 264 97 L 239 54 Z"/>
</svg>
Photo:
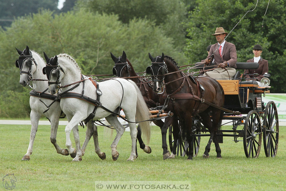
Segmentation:
<svg viewBox="0 0 286 191">
<path fill-rule="evenodd" d="M 219 49 L 213 55 L 215 60 L 215 70 L 208 71 L 204 75 L 210 76 L 216 79 L 229 79 L 233 78 L 236 73 L 236 61 L 237 54 L 235 45 L 224 40 L 228 33 L 224 31 L 223 27 L 217 27 L 215 33 L 212 34 L 215 36 L 217 43 L 213 44 L 209 50 L 209 55 L 205 59 L 207 65 L 212 63 L 212 54 L 215 52 L 217 47 Z"/>
</svg>

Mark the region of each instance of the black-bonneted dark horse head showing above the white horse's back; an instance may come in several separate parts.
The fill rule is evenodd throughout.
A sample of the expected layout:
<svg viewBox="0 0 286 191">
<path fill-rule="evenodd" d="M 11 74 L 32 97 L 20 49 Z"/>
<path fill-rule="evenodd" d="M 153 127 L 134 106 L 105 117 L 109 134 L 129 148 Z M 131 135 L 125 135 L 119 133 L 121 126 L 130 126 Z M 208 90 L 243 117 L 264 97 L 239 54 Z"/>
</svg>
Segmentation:
<svg viewBox="0 0 286 191">
<path fill-rule="evenodd" d="M 117 77 L 129 77 L 130 76 L 130 65 L 126 61 L 126 54 L 123 51 L 122 56 L 118 58 L 110 53 L 112 60 L 114 61 L 114 67 L 112 73 Z"/>
</svg>

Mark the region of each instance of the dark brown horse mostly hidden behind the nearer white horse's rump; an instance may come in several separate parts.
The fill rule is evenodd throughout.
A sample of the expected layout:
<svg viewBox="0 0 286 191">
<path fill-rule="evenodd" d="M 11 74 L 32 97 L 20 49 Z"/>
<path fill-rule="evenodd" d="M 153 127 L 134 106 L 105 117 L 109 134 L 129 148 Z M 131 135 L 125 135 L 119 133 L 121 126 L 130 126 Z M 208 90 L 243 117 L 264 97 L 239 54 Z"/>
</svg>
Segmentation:
<svg viewBox="0 0 286 191">
<path fill-rule="evenodd" d="M 117 77 L 138 76 L 135 73 L 132 64 L 126 58 L 126 53 L 124 51 L 122 53 L 122 56 L 120 56 L 120 57 L 116 57 L 112 53 L 110 53 L 110 54 L 111 54 L 111 58 L 114 61 L 114 67 L 112 69 L 114 76 L 117 76 Z M 144 78 L 144 77 L 142 77 L 142 78 L 130 78 L 130 80 L 134 81 L 138 85 L 139 89 L 141 90 L 142 96 L 143 96 L 143 98 L 144 98 L 144 100 L 145 100 L 145 102 L 149 108 L 157 107 L 158 105 L 164 104 L 164 100 L 162 99 L 162 94 L 155 93 L 152 89 L 152 86 L 149 83 L 144 83 L 144 84 L 142 83 L 142 82 L 146 81 L 146 78 Z M 167 110 L 165 110 L 165 111 L 167 111 Z M 168 117 L 168 118 L 172 118 L 172 117 Z M 161 132 L 167 131 L 167 129 L 162 129 L 163 124 L 164 124 L 164 122 L 162 120 L 156 120 L 153 122 L 158 127 L 160 127 Z M 172 125 L 173 125 L 173 128 L 175 130 L 175 133 L 178 133 L 176 131 L 176 130 L 178 130 L 178 121 L 174 121 L 174 123 Z M 164 128 L 168 128 L 168 127 L 169 126 L 166 126 Z M 137 130 L 138 130 L 137 139 L 139 141 L 140 148 L 144 149 L 145 144 L 142 141 L 141 130 L 140 130 L 139 126 L 138 126 Z M 163 159 L 166 159 L 170 156 L 169 151 L 167 151 L 166 133 L 162 133 L 162 145 L 163 145 L 162 146 L 162 148 L 163 148 Z M 164 150 L 164 148 L 166 148 L 166 150 Z"/>
</svg>

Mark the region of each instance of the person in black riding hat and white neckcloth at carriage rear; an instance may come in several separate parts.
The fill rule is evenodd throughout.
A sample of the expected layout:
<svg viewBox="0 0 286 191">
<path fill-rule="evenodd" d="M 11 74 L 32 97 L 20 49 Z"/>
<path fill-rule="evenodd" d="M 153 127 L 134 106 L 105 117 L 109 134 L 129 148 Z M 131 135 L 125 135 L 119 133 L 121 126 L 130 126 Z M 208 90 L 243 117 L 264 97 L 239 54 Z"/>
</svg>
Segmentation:
<svg viewBox="0 0 286 191">
<path fill-rule="evenodd" d="M 254 57 L 248 60 L 247 62 L 257 62 L 259 64 L 259 67 L 253 70 L 249 69 L 244 70 L 244 74 L 246 74 L 245 75 L 246 81 L 254 80 L 259 82 L 262 78 L 264 78 L 263 74 L 268 73 L 268 61 L 261 58 L 261 53 L 262 53 L 262 46 L 259 44 L 254 45 L 253 47 Z M 254 73 L 257 73 L 259 76 L 255 77 L 253 75 L 249 75 Z"/>
</svg>

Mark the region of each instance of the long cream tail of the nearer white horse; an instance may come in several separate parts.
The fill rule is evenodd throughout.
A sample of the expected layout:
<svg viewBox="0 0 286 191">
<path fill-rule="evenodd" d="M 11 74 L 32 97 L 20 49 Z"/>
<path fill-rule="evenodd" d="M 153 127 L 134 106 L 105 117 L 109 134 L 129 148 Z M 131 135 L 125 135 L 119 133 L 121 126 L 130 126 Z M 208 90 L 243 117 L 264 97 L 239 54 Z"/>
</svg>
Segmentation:
<svg viewBox="0 0 286 191">
<path fill-rule="evenodd" d="M 141 91 L 139 90 L 135 82 L 131 80 L 128 81 L 130 81 L 130 83 L 133 84 L 137 92 L 136 114 L 135 114 L 136 121 L 149 120 L 150 112 L 146 105 L 146 102 L 144 101 Z M 146 139 L 146 143 L 148 144 L 150 141 L 150 121 L 140 122 L 139 125 L 142 131 L 142 135 Z"/>
</svg>

